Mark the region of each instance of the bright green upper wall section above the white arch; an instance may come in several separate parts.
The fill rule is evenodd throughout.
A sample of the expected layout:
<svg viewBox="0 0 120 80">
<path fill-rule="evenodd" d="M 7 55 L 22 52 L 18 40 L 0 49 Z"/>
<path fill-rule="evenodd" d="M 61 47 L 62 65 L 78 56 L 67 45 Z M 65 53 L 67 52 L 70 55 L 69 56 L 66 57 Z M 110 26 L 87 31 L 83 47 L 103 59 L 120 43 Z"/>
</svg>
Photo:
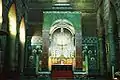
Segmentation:
<svg viewBox="0 0 120 80">
<path fill-rule="evenodd" d="M 73 24 L 75 30 L 81 30 L 81 13 L 76 11 L 46 11 L 44 12 L 44 29 L 49 30 L 54 21 L 66 19 Z"/>
</svg>

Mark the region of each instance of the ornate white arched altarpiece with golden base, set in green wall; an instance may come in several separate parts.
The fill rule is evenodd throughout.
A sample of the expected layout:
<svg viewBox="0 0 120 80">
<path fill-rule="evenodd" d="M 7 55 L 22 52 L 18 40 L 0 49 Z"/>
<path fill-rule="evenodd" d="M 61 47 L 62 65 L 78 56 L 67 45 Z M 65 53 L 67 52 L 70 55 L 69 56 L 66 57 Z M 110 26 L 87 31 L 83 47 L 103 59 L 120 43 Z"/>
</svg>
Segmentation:
<svg viewBox="0 0 120 80">
<path fill-rule="evenodd" d="M 57 20 L 50 29 L 49 70 L 52 65 L 75 66 L 75 30 L 67 20 Z"/>
</svg>

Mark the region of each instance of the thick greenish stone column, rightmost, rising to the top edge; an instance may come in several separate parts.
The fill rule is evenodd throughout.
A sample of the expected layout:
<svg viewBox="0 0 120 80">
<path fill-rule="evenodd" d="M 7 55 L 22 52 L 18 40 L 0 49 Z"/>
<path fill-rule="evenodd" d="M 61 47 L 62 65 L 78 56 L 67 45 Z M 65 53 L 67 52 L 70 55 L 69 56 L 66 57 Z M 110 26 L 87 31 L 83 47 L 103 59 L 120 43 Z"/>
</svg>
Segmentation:
<svg viewBox="0 0 120 80">
<path fill-rule="evenodd" d="M 104 27 L 106 38 L 106 58 L 107 58 L 107 72 L 108 78 L 112 78 L 112 67 L 115 67 L 115 12 L 113 5 L 109 0 L 104 2 Z"/>
</svg>

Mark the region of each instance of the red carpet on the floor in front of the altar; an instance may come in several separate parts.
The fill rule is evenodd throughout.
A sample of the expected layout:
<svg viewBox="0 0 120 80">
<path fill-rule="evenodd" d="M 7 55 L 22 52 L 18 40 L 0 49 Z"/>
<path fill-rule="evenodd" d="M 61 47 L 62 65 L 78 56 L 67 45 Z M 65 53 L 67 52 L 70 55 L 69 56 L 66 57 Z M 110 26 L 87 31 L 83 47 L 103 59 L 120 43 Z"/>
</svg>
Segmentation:
<svg viewBox="0 0 120 80">
<path fill-rule="evenodd" d="M 73 78 L 72 71 L 52 71 L 52 78 Z"/>
</svg>

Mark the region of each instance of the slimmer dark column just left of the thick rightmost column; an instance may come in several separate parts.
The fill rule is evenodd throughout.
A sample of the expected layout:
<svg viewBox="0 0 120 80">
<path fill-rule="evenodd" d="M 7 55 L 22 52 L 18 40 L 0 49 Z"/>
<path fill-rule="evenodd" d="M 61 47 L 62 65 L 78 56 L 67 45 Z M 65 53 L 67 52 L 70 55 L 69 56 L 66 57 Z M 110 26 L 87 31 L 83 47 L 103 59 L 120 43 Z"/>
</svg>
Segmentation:
<svg viewBox="0 0 120 80">
<path fill-rule="evenodd" d="M 98 36 L 98 55 L 99 55 L 99 69 L 100 74 L 104 75 L 106 73 L 106 54 L 105 54 L 105 36 L 104 36 L 104 27 L 103 27 L 103 16 L 102 8 L 99 7 L 97 11 L 97 36 Z"/>
</svg>

